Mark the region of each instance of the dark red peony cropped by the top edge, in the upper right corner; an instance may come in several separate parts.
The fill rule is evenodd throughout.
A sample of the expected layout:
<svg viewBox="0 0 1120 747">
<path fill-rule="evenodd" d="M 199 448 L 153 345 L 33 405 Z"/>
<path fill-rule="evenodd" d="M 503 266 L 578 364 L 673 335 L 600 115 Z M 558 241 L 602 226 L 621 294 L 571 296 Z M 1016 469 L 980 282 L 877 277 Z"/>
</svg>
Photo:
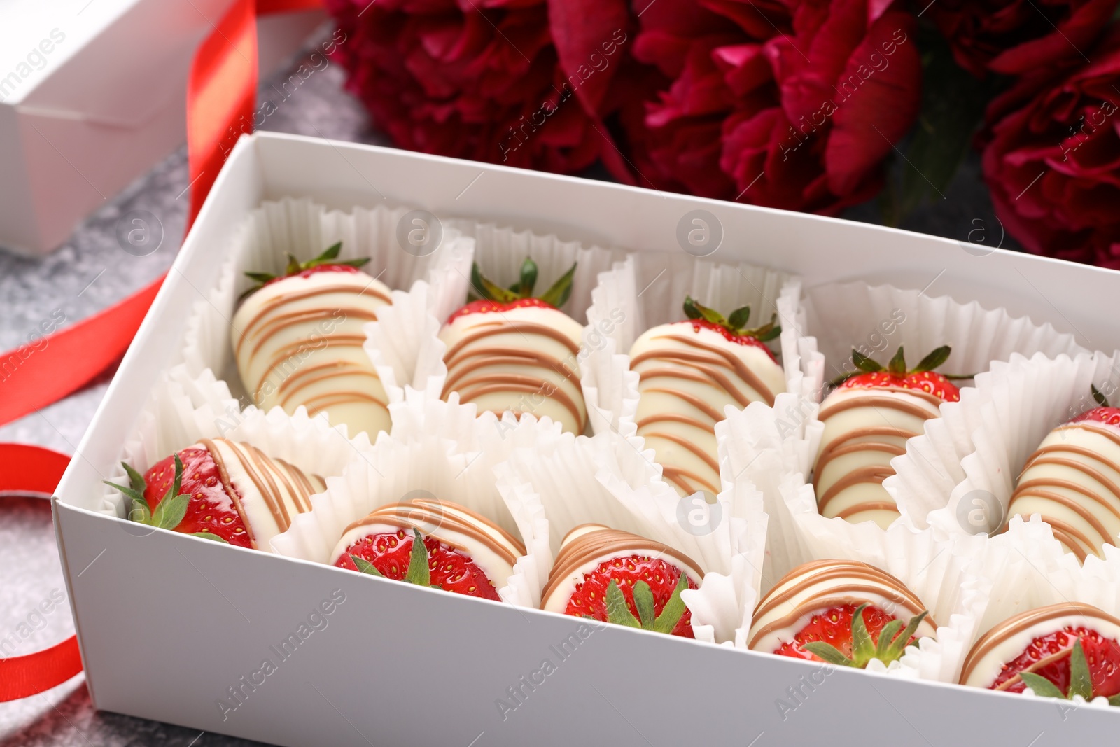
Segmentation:
<svg viewBox="0 0 1120 747">
<path fill-rule="evenodd" d="M 918 0 L 924 4 L 928 0 Z M 1120 0 L 935 0 L 924 13 L 937 25 L 962 67 L 1023 74 L 1082 59 Z"/>
</svg>

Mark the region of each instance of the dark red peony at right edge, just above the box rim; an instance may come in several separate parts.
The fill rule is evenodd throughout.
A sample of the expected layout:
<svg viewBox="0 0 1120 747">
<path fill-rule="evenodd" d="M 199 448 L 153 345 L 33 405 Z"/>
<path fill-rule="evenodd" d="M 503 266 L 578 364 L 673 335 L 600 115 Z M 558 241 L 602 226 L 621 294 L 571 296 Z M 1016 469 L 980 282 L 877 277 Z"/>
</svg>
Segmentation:
<svg viewBox="0 0 1120 747">
<path fill-rule="evenodd" d="M 1036 253 L 1120 269 L 1120 26 L 1083 64 L 992 124 L 984 179 L 1008 233 Z"/>
</svg>

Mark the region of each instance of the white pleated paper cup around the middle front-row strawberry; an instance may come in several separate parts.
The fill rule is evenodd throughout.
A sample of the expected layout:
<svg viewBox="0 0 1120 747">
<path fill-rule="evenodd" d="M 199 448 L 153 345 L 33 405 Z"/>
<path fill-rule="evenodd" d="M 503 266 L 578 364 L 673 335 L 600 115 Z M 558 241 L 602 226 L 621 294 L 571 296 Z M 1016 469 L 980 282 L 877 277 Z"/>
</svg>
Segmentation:
<svg viewBox="0 0 1120 747">
<path fill-rule="evenodd" d="M 548 448 L 516 449 L 497 467 L 498 487 L 514 512 L 541 511 L 547 552 L 515 569 L 519 604 L 539 607 L 541 590 L 563 536 L 580 524 L 604 524 L 691 558 L 704 571 L 699 589 L 682 598 L 697 638 L 717 643 L 745 637 L 743 610 L 757 601 L 765 517 L 760 496 L 747 485 L 720 493 L 715 504 L 682 498 L 660 479 L 650 454 L 607 431 L 566 435 Z"/>
</svg>

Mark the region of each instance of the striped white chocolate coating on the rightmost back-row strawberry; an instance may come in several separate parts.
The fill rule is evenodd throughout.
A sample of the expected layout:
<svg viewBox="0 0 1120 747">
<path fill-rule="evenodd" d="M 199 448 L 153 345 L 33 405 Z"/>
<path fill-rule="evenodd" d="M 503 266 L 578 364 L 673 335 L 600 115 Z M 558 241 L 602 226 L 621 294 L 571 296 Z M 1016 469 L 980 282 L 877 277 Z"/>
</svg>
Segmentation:
<svg viewBox="0 0 1120 747">
<path fill-rule="evenodd" d="M 1008 516 L 1042 514 L 1068 552 L 1103 558 L 1120 533 L 1120 429 L 1082 421 L 1061 426 L 1019 475 Z"/>
</svg>

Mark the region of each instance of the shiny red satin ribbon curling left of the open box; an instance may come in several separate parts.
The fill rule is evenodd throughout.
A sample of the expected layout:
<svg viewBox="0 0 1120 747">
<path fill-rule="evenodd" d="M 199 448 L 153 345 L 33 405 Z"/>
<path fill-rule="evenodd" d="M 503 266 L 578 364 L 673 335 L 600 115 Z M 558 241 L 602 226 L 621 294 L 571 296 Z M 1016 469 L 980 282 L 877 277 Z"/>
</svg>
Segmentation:
<svg viewBox="0 0 1120 747">
<path fill-rule="evenodd" d="M 187 151 L 194 223 L 242 122 L 252 128 L 256 97 L 256 17 L 311 10 L 321 0 L 234 0 L 199 45 L 187 84 Z M 44 337 L 35 347 L 0 354 L 0 426 L 73 394 L 128 351 L 164 278 L 119 304 Z M 50 449 L 0 443 L 0 492 L 54 493 L 69 457 Z M 27 656 L 0 660 L 0 702 L 27 698 L 82 671 L 77 637 Z"/>
</svg>

